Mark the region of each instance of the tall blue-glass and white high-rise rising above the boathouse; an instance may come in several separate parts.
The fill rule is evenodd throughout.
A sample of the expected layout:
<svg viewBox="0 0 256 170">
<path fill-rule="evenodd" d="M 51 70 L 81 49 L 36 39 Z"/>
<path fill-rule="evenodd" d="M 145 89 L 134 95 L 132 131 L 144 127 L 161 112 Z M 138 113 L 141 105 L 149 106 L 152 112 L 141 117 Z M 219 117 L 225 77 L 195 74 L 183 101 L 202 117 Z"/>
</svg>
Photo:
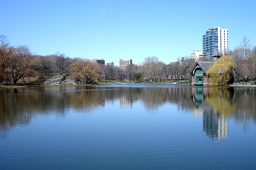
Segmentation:
<svg viewBox="0 0 256 170">
<path fill-rule="evenodd" d="M 208 29 L 202 36 L 202 46 L 204 58 L 212 58 L 216 50 L 221 53 L 228 51 L 228 29 Z"/>
</svg>

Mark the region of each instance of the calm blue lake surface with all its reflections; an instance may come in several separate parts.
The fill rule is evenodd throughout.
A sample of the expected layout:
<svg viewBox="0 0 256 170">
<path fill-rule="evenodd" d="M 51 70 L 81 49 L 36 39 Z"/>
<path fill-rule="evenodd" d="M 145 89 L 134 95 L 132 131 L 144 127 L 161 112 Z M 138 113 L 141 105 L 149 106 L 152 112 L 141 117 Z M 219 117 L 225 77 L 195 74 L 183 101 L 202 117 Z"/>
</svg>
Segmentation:
<svg viewBox="0 0 256 170">
<path fill-rule="evenodd" d="M 255 169 L 256 88 L 0 89 L 0 169 Z"/>
</svg>

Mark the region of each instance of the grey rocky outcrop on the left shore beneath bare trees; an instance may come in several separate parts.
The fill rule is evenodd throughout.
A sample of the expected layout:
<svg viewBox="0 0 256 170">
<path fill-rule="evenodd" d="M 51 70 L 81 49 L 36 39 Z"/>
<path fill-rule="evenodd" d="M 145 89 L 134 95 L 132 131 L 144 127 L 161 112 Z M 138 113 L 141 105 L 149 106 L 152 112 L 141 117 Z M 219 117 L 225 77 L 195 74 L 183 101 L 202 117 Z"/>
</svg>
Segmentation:
<svg viewBox="0 0 256 170">
<path fill-rule="evenodd" d="M 77 81 L 74 79 L 67 79 L 69 74 L 53 74 L 43 80 L 45 85 L 77 85 Z"/>
</svg>

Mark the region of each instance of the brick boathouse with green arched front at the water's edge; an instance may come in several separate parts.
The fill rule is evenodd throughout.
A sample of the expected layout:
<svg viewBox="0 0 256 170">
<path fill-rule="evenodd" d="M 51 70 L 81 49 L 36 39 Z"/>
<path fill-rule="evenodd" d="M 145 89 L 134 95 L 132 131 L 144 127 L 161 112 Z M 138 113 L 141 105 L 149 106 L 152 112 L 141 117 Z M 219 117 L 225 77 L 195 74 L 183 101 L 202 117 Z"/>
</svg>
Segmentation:
<svg viewBox="0 0 256 170">
<path fill-rule="evenodd" d="M 208 85 L 209 78 L 206 72 L 212 67 L 214 62 L 198 61 L 193 66 L 189 74 L 192 76 L 192 85 Z"/>
</svg>

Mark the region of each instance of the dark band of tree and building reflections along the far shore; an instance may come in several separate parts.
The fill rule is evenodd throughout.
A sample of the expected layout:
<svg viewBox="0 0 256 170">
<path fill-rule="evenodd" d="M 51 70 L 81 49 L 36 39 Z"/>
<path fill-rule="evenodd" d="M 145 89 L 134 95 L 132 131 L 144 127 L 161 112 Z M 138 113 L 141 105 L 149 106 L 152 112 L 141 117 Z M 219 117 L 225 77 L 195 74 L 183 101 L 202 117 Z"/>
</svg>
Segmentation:
<svg viewBox="0 0 256 170">
<path fill-rule="evenodd" d="M 176 105 L 183 112 L 202 116 L 203 130 L 212 139 L 228 137 L 228 119 L 235 119 L 248 129 L 256 122 L 256 89 L 236 87 L 191 86 L 42 86 L 0 89 L 0 133 L 28 124 L 35 115 L 66 116 L 67 109 L 91 114 L 97 108 L 119 101 L 120 109 L 132 109 L 141 102 L 145 111 L 158 112 L 165 104 Z M 117 112 L 117 110 L 113 110 Z M 69 113 L 69 112 L 68 112 Z M 170 110 L 170 114 L 172 111 Z"/>
</svg>

